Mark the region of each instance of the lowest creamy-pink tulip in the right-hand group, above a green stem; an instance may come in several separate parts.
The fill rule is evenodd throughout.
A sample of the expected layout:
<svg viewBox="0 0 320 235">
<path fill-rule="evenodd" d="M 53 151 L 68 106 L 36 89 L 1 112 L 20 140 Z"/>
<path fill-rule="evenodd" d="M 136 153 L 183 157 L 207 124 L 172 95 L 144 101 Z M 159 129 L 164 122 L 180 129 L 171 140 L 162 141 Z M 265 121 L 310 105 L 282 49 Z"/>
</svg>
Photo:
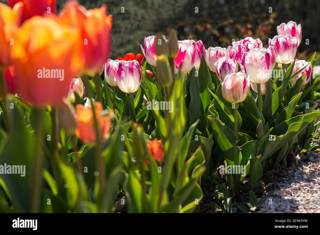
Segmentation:
<svg viewBox="0 0 320 235">
<path fill-rule="evenodd" d="M 228 74 L 221 83 L 221 92 L 230 103 L 240 103 L 247 98 L 250 90 L 250 75 L 242 72 Z"/>
</svg>

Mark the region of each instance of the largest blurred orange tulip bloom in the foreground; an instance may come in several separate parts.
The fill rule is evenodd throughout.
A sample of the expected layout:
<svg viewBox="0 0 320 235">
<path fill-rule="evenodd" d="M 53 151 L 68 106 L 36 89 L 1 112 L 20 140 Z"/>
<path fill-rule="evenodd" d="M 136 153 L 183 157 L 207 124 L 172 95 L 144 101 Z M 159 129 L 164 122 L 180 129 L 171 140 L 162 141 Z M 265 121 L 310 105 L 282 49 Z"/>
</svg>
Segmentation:
<svg viewBox="0 0 320 235">
<path fill-rule="evenodd" d="M 22 97 L 36 107 L 59 105 L 80 70 L 79 33 L 54 18 L 34 16 L 16 31 L 11 56 Z"/>
</svg>

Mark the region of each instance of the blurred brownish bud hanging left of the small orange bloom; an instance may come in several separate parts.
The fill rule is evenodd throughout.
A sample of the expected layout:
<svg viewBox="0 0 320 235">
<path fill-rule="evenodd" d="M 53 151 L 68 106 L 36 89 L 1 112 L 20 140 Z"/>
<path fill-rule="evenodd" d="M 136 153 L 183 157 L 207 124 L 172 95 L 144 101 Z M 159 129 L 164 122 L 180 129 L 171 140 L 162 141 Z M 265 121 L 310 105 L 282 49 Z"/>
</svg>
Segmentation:
<svg viewBox="0 0 320 235">
<path fill-rule="evenodd" d="M 68 102 L 68 101 L 67 101 Z M 77 123 L 75 119 L 75 113 L 73 106 L 68 105 L 64 100 L 59 106 L 57 106 L 58 116 L 61 127 L 65 129 L 66 133 L 73 134 L 77 128 Z"/>
</svg>

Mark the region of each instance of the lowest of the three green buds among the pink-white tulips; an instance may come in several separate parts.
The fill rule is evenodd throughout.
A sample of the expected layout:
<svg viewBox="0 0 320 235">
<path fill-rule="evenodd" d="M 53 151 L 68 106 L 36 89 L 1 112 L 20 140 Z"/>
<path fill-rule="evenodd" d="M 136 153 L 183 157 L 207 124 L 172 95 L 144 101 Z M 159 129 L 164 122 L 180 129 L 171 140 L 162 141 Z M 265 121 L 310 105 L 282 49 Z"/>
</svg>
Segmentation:
<svg viewBox="0 0 320 235">
<path fill-rule="evenodd" d="M 165 55 L 157 56 L 157 79 L 162 87 L 168 87 L 173 82 L 173 74 Z"/>
</svg>

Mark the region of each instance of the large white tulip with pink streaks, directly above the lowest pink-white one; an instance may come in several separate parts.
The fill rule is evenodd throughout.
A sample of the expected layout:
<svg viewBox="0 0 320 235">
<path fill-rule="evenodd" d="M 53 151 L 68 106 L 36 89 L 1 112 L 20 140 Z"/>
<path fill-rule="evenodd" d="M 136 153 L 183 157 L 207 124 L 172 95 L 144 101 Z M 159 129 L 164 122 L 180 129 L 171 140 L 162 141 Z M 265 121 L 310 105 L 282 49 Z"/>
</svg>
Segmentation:
<svg viewBox="0 0 320 235">
<path fill-rule="evenodd" d="M 276 64 L 275 50 L 272 46 L 268 49 L 260 47 L 251 49 L 243 54 L 241 70 L 248 76 L 251 82 L 264 83 L 270 79 L 272 69 Z"/>
</svg>

